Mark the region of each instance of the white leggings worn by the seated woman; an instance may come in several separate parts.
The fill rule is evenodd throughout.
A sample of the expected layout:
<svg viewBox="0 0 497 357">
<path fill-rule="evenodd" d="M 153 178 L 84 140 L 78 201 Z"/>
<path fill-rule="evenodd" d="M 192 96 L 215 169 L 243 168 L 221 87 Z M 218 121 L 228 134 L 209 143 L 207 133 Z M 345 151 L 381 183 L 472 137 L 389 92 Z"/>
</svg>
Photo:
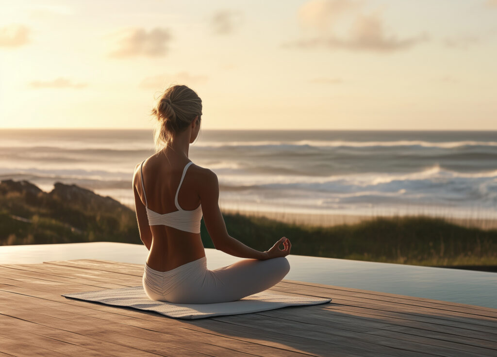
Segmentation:
<svg viewBox="0 0 497 357">
<path fill-rule="evenodd" d="M 145 263 L 142 283 L 152 300 L 210 304 L 235 301 L 266 290 L 289 271 L 286 257 L 244 259 L 215 270 L 207 269 L 207 259 L 202 257 L 167 272 L 154 270 Z"/>
</svg>

